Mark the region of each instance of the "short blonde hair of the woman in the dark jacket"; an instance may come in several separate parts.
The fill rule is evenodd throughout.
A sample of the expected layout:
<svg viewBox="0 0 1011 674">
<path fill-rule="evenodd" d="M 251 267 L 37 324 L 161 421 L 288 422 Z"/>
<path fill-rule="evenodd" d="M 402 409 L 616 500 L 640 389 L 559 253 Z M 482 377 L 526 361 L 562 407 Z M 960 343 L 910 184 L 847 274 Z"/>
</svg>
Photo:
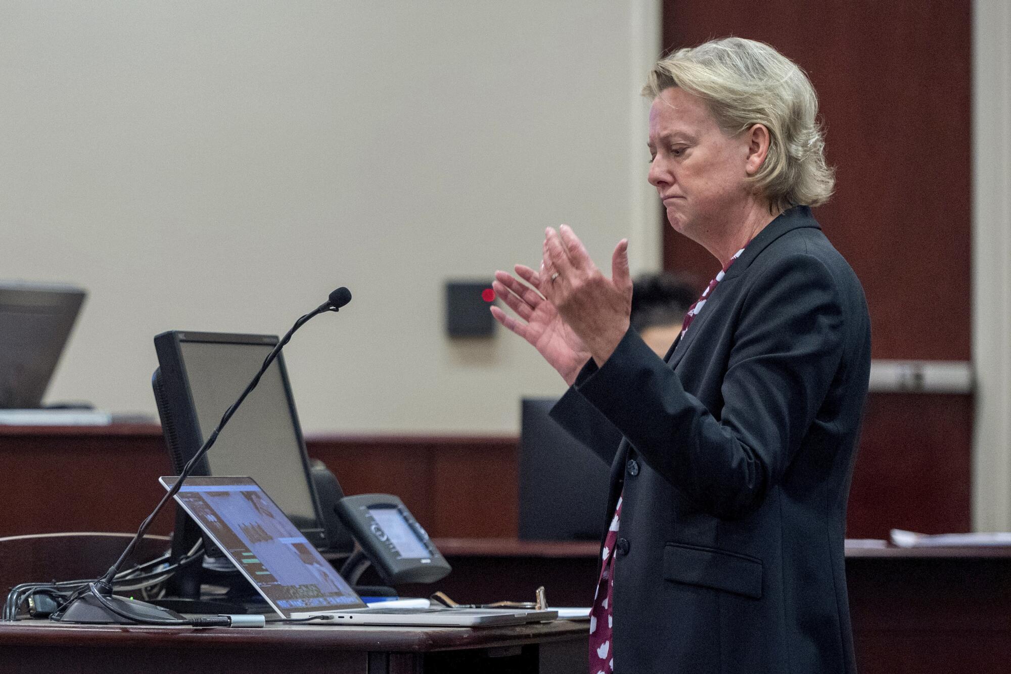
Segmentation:
<svg viewBox="0 0 1011 674">
<path fill-rule="evenodd" d="M 835 171 L 825 163 L 818 96 L 793 61 L 763 42 L 724 37 L 658 61 L 642 93 L 656 98 L 670 87 L 705 100 L 725 133 L 768 129 L 768 155 L 750 180 L 771 208 L 828 201 Z"/>
</svg>

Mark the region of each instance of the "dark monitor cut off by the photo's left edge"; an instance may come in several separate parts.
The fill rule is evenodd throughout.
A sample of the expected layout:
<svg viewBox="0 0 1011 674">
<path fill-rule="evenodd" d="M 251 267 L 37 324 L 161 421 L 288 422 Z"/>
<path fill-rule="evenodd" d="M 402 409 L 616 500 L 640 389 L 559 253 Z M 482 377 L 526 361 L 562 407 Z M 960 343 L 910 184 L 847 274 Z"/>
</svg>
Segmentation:
<svg viewBox="0 0 1011 674">
<path fill-rule="evenodd" d="M 0 408 L 41 405 L 86 294 L 71 285 L 0 282 Z"/>
</svg>

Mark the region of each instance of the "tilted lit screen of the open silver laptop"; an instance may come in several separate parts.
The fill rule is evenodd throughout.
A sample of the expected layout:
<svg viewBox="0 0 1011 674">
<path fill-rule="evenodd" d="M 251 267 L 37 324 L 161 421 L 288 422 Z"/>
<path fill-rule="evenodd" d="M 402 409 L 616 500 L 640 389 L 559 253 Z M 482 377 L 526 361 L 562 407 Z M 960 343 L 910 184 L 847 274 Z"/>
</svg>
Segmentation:
<svg viewBox="0 0 1011 674">
<path fill-rule="evenodd" d="M 282 615 L 365 607 L 252 478 L 190 477 L 176 501 Z"/>
</svg>

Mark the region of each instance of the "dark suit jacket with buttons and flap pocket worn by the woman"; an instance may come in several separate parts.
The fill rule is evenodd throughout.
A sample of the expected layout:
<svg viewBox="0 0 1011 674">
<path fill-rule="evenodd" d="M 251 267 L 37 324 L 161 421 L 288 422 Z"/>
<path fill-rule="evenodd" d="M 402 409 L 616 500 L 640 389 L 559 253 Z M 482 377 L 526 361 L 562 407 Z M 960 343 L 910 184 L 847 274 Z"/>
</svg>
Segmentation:
<svg viewBox="0 0 1011 674">
<path fill-rule="evenodd" d="M 630 329 L 551 412 L 612 463 L 605 521 L 624 493 L 616 671 L 854 672 L 843 540 L 869 318 L 808 208 L 755 236 L 664 360 Z"/>
</svg>

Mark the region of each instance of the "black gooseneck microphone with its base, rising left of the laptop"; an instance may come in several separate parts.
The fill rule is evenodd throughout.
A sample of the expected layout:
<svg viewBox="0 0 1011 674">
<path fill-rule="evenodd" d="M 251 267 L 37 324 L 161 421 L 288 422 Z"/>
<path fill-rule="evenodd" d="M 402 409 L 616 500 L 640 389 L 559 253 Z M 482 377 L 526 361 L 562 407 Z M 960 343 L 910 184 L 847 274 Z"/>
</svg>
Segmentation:
<svg viewBox="0 0 1011 674">
<path fill-rule="evenodd" d="M 165 504 L 172 500 L 172 497 L 179 493 L 180 487 L 183 486 L 183 482 L 189 477 L 189 474 L 193 471 L 193 468 L 197 465 L 200 459 L 214 446 L 214 442 L 217 440 L 217 436 L 221 432 L 221 429 L 228 422 L 228 419 L 236 413 L 239 406 L 243 404 L 246 397 L 253 392 L 257 384 L 260 383 L 260 378 L 263 377 L 267 368 L 270 364 L 274 362 L 277 355 L 281 353 L 281 349 L 284 345 L 288 344 L 291 340 L 291 335 L 294 334 L 295 330 L 304 325 L 308 320 L 314 316 L 325 313 L 327 311 L 339 311 L 341 307 L 345 306 L 351 301 L 351 291 L 344 286 L 338 288 L 330 294 L 330 297 L 326 302 L 317 306 L 312 311 L 309 311 L 305 315 L 301 316 L 295 321 L 294 325 L 291 326 L 281 341 L 277 343 L 277 346 L 271 350 L 267 358 L 264 359 L 263 365 L 260 366 L 260 371 L 257 372 L 256 376 L 250 381 L 246 390 L 242 392 L 239 398 L 228 407 L 224 414 L 221 415 L 221 420 L 217 422 L 217 426 L 214 430 L 207 437 L 203 445 L 197 450 L 196 454 L 187 462 L 186 466 L 183 468 L 172 488 L 165 494 L 165 497 L 159 501 L 158 505 L 155 506 L 154 511 L 148 515 L 148 517 L 141 523 L 141 527 L 136 532 L 136 536 L 129 542 L 126 549 L 123 551 L 119 559 L 116 560 L 105 575 L 100 579 L 87 583 L 87 585 L 82 586 L 75 592 L 71 599 L 67 601 L 60 609 L 53 614 L 53 619 L 63 620 L 66 622 L 142 622 L 142 623 L 155 623 L 155 624 L 194 624 L 194 621 L 187 619 L 174 611 L 169 611 L 164 608 L 160 608 L 153 604 L 148 604 L 143 601 L 134 601 L 132 599 L 125 599 L 122 597 L 117 597 L 112 594 L 112 583 L 119 573 L 120 568 L 129 559 L 129 556 L 133 553 L 140 541 L 147 534 L 148 528 L 151 523 L 158 516 L 158 513 L 162 511 Z M 199 624 L 202 627 L 208 625 L 206 620 L 208 618 L 195 618 L 198 620 Z"/>
</svg>

